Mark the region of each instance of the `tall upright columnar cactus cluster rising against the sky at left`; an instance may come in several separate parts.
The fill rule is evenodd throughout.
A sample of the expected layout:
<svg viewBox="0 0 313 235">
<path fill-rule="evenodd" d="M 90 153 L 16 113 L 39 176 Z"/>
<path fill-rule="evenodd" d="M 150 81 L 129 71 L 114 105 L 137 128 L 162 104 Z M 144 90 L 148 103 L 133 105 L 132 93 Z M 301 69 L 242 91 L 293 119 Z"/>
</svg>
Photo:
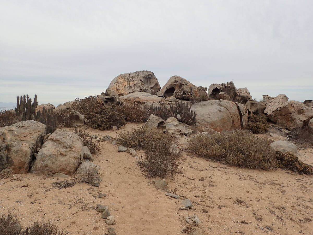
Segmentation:
<svg viewBox="0 0 313 235">
<path fill-rule="evenodd" d="M 36 119 L 36 107 L 38 105 L 37 95 L 34 97 L 34 102 L 27 96 L 17 97 L 16 100 L 16 115 L 19 117 L 19 121 L 28 121 Z"/>
</svg>

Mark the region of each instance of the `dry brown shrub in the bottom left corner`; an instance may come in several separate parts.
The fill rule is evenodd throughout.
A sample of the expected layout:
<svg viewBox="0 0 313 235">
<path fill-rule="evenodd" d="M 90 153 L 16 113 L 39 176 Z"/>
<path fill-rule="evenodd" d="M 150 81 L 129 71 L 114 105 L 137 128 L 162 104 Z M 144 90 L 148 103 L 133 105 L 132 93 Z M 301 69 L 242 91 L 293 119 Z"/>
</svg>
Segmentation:
<svg viewBox="0 0 313 235">
<path fill-rule="evenodd" d="M 13 215 L 2 215 L 0 217 L 0 231 L 2 235 L 19 235 L 21 234 L 22 226 Z"/>
</svg>

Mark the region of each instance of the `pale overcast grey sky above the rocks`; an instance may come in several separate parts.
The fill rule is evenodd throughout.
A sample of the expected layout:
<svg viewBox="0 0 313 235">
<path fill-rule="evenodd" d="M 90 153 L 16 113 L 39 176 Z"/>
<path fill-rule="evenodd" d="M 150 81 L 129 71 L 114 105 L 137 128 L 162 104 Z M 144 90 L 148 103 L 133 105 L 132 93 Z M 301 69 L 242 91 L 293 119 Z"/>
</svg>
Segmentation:
<svg viewBox="0 0 313 235">
<path fill-rule="evenodd" d="M 0 0 L 0 102 L 58 105 L 150 70 L 313 100 L 313 1 Z"/>
</svg>

